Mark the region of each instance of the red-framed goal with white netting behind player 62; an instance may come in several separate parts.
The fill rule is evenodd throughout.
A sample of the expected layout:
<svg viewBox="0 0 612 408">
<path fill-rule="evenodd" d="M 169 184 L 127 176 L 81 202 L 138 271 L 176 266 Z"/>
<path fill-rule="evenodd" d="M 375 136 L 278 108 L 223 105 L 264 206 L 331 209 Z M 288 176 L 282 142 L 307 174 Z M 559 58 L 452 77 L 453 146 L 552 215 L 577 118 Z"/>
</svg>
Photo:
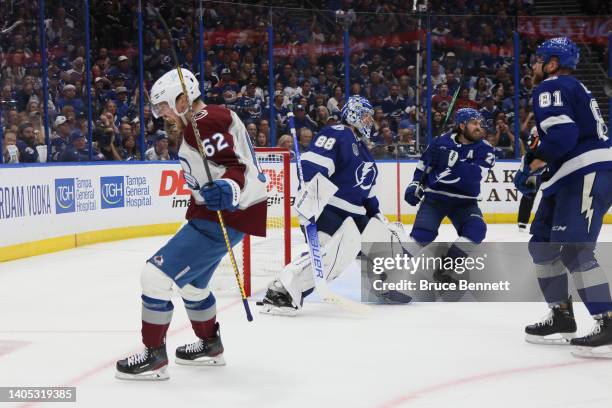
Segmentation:
<svg viewBox="0 0 612 408">
<path fill-rule="evenodd" d="M 251 296 L 253 279 L 271 279 L 291 261 L 291 168 L 290 152 L 282 148 L 255 148 L 255 157 L 266 176 L 268 216 L 266 237 L 245 235 L 234 247 L 244 289 Z M 238 294 L 238 284 L 225 256 L 213 275 L 215 293 Z"/>
</svg>

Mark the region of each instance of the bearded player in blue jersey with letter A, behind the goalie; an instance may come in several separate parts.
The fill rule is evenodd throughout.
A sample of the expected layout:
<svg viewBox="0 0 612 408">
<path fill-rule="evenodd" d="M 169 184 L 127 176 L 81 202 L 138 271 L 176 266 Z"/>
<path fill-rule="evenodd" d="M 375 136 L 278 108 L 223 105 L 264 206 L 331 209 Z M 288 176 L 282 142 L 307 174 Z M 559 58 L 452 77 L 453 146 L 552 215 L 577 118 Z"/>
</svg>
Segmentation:
<svg viewBox="0 0 612 408">
<path fill-rule="evenodd" d="M 483 119 L 475 109 L 457 110 L 455 129 L 435 138 L 417 163 L 404 194 L 408 204 L 420 203 L 410 233 L 420 249 L 413 255 L 436 239 L 444 217 L 459 235 L 446 257 L 465 257 L 484 240 L 487 226 L 477 200 L 483 173 L 495 165 L 495 153 L 483 140 Z"/>
</svg>

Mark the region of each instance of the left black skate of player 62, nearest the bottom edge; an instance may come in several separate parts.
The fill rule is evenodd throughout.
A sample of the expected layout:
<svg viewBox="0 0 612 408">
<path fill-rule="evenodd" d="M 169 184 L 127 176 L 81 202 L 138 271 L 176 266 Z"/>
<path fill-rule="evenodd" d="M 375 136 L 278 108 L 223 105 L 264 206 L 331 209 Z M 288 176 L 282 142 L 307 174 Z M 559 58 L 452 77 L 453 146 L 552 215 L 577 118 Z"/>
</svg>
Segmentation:
<svg viewBox="0 0 612 408">
<path fill-rule="evenodd" d="M 117 361 L 115 377 L 120 380 L 167 380 L 168 356 L 166 345 L 145 347 L 140 353 Z"/>
</svg>

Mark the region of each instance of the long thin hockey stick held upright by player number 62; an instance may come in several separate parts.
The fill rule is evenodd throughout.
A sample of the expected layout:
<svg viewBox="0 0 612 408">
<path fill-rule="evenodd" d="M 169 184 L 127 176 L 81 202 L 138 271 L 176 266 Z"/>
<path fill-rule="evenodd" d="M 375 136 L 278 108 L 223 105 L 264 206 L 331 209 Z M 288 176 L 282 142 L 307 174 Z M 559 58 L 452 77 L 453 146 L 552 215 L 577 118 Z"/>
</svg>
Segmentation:
<svg viewBox="0 0 612 408">
<path fill-rule="evenodd" d="M 206 171 L 206 177 L 208 178 L 208 183 L 206 185 L 212 184 L 212 175 L 210 173 L 210 166 L 208 164 L 208 157 L 206 156 L 206 152 L 204 151 L 204 146 L 202 145 L 202 139 L 200 138 L 200 131 L 198 129 L 198 125 L 193 116 L 193 108 L 191 106 L 191 102 L 189 102 L 189 93 L 187 92 L 187 86 L 185 85 L 185 79 L 183 78 L 183 72 L 181 70 L 181 66 L 179 64 L 178 56 L 176 55 L 176 50 L 174 48 L 174 44 L 172 43 L 172 35 L 170 33 L 170 29 L 166 24 L 166 20 L 159 13 L 159 9 L 151 7 L 153 12 L 161 22 L 164 27 L 164 31 L 170 40 L 170 50 L 172 51 L 172 58 L 174 59 L 174 65 L 176 66 L 176 71 L 179 76 L 179 81 L 181 82 L 181 88 L 183 88 L 183 95 L 187 98 L 187 109 L 189 110 L 189 117 L 191 121 L 191 127 L 193 128 L 193 132 L 195 135 L 196 144 L 198 145 L 198 151 L 200 152 L 200 156 L 202 156 L 202 161 L 204 162 L 204 170 Z M 142 125 L 141 125 L 142 126 Z M 234 276 L 236 277 L 236 282 L 238 282 L 238 287 L 240 288 L 240 295 L 242 297 L 242 304 L 244 305 L 244 311 L 247 315 L 247 320 L 249 322 L 253 321 L 253 315 L 251 314 L 251 309 L 249 308 L 249 302 L 247 301 L 246 292 L 244 291 L 244 284 L 242 283 L 242 279 L 240 278 L 240 271 L 238 270 L 238 264 L 236 263 L 236 258 L 234 257 L 234 250 L 232 249 L 232 244 L 230 243 L 229 236 L 227 235 L 227 229 L 225 227 L 225 221 L 223 220 L 223 214 L 220 210 L 217 210 L 217 218 L 219 219 L 219 226 L 221 226 L 221 231 L 223 232 L 223 239 L 225 240 L 225 246 L 227 247 L 227 252 L 230 256 L 230 262 L 232 264 L 232 269 L 234 271 Z"/>
</svg>

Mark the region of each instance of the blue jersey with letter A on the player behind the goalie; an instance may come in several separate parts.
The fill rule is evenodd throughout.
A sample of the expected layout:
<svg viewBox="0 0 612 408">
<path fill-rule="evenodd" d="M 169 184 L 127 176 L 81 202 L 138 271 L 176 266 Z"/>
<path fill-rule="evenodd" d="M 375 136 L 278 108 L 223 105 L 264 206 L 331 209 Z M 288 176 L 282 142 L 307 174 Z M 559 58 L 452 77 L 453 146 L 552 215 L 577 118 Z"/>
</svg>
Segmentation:
<svg viewBox="0 0 612 408">
<path fill-rule="evenodd" d="M 414 181 L 419 182 L 423 171 L 431 161 L 431 151 L 445 147 L 459 153 L 453 167 L 432 169 L 425 182 L 425 196 L 439 201 L 475 201 L 480 196 L 483 174 L 495 165 L 495 150 L 486 140 L 461 144 L 456 133 L 445 133 L 434 139 L 421 156 L 414 171 Z"/>
</svg>

